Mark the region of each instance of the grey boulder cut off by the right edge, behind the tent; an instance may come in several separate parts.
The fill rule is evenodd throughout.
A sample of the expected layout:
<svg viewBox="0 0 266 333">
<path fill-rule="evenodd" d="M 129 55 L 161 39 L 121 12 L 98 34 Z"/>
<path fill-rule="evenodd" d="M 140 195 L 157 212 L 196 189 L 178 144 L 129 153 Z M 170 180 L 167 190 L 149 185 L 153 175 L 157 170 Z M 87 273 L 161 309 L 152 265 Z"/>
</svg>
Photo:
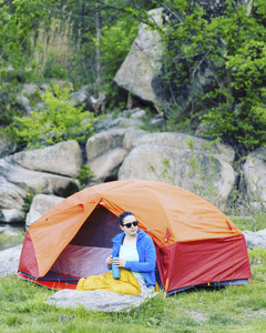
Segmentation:
<svg viewBox="0 0 266 333">
<path fill-rule="evenodd" d="M 252 152 L 243 169 L 248 198 L 266 208 L 266 148 Z"/>
</svg>

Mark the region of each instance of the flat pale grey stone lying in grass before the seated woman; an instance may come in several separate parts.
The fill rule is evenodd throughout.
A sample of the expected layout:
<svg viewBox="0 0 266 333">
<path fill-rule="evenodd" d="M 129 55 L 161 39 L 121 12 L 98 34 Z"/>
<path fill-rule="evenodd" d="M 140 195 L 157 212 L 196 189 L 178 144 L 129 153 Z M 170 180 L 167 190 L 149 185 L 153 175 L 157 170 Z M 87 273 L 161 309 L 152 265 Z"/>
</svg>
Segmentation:
<svg viewBox="0 0 266 333">
<path fill-rule="evenodd" d="M 120 312 L 137 307 L 147 299 L 143 295 L 122 295 L 102 290 L 62 290 L 49 297 L 45 303 L 58 307 L 84 306 L 86 310 L 93 311 Z"/>
</svg>

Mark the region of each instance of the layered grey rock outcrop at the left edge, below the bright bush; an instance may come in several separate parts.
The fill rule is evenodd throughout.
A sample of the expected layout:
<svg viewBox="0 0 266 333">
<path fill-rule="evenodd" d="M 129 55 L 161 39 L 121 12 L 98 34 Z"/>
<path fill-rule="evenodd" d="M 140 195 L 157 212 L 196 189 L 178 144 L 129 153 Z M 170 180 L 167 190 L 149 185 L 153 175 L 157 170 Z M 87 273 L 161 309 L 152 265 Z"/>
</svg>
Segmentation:
<svg viewBox="0 0 266 333">
<path fill-rule="evenodd" d="M 71 176 L 79 174 L 80 165 L 81 151 L 75 141 L 1 159 L 0 221 L 23 222 L 28 193 L 65 198 L 79 191 L 79 182 Z"/>
</svg>

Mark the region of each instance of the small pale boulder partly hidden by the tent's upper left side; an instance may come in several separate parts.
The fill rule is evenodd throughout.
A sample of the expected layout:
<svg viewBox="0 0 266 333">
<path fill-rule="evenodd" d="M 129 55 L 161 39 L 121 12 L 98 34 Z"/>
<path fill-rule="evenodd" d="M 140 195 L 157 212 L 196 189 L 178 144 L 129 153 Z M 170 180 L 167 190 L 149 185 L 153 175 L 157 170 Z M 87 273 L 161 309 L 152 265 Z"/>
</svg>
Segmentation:
<svg viewBox="0 0 266 333">
<path fill-rule="evenodd" d="M 40 219 L 45 212 L 48 212 L 55 204 L 61 202 L 64 198 L 47 194 L 37 194 L 33 198 L 30 211 L 27 214 L 25 225 L 30 226 L 34 221 Z"/>
</svg>

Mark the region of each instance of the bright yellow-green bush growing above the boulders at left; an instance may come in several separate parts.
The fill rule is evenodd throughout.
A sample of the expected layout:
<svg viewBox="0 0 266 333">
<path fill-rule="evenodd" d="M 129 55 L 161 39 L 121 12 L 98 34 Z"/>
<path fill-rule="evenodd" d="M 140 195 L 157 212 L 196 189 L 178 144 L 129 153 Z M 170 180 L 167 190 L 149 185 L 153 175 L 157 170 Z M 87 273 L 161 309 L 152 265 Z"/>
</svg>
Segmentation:
<svg viewBox="0 0 266 333">
<path fill-rule="evenodd" d="M 27 143 L 29 148 L 40 148 L 66 140 L 84 142 L 93 134 L 94 117 L 82 112 L 68 100 L 68 88 L 53 85 L 43 98 L 44 109 L 31 111 L 30 117 L 14 117 L 7 134 L 16 143 Z"/>
</svg>

